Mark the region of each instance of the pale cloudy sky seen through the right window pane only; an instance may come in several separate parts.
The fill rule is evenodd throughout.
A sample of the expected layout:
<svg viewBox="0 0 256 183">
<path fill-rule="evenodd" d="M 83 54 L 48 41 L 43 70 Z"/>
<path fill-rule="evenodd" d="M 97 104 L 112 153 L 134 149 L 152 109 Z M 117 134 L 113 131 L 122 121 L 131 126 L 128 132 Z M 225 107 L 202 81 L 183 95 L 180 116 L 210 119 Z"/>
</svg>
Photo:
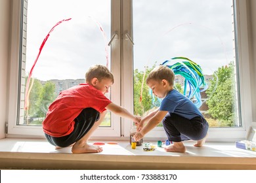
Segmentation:
<svg viewBox="0 0 256 183">
<path fill-rule="evenodd" d="M 135 67 L 185 57 L 210 75 L 234 60 L 231 0 L 144 2 L 134 7 Z"/>
</svg>

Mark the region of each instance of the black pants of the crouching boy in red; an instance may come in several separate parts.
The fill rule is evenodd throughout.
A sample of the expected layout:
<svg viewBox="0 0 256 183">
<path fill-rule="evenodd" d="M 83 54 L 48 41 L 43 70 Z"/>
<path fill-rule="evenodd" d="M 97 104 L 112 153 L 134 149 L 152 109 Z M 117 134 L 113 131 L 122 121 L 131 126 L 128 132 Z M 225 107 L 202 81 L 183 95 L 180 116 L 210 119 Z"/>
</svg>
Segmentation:
<svg viewBox="0 0 256 183">
<path fill-rule="evenodd" d="M 64 137 L 52 137 L 45 133 L 45 137 L 48 142 L 54 146 L 67 147 L 75 142 L 79 141 L 85 134 L 93 127 L 96 121 L 100 118 L 100 112 L 94 108 L 85 108 L 75 118 L 74 131 Z"/>
</svg>

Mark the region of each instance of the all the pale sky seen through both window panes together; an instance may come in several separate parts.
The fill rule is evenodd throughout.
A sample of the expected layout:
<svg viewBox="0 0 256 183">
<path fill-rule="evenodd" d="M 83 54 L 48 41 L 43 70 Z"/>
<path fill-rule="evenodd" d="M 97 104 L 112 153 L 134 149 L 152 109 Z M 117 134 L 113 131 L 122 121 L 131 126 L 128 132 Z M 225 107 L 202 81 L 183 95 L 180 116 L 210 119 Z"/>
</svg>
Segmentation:
<svg viewBox="0 0 256 183">
<path fill-rule="evenodd" d="M 192 59 L 207 75 L 227 65 L 234 60 L 231 5 L 232 0 L 133 0 L 135 69 L 175 57 Z M 26 73 L 50 29 L 68 18 L 51 33 L 33 77 L 84 78 L 89 66 L 106 65 L 110 0 L 29 0 Z"/>
</svg>

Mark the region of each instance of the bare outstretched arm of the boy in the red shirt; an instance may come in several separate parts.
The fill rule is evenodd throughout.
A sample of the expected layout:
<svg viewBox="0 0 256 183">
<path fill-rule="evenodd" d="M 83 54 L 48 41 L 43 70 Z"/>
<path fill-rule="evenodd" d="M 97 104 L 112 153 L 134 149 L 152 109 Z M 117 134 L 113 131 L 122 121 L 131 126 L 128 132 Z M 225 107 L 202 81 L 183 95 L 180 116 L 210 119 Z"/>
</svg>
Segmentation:
<svg viewBox="0 0 256 183">
<path fill-rule="evenodd" d="M 106 106 L 106 109 L 110 110 L 111 112 L 114 112 L 115 114 L 122 116 L 124 118 L 129 118 L 131 120 L 133 120 L 133 122 L 135 123 L 139 123 L 140 122 L 140 117 L 139 116 L 135 116 L 133 114 L 131 114 L 128 110 L 126 110 L 125 108 L 116 105 L 114 103 L 110 103 L 109 105 Z"/>
</svg>

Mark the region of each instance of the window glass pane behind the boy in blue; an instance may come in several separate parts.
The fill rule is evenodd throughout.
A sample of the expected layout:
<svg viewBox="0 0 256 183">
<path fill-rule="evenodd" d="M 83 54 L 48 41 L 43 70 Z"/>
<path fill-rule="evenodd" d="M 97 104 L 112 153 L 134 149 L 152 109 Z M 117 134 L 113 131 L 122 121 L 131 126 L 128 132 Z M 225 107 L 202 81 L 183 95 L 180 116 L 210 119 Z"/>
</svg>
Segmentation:
<svg viewBox="0 0 256 183">
<path fill-rule="evenodd" d="M 144 74 L 166 60 L 168 65 L 186 65 L 190 59 L 200 65 L 208 86 L 200 92 L 201 99 L 196 95 L 190 99 L 202 102 L 198 107 L 210 127 L 240 126 L 233 1 L 133 1 L 133 17 L 135 114 L 159 105 L 152 103 L 145 83 L 140 103 Z M 177 71 L 184 74 L 179 67 Z M 175 73 L 175 88 L 188 96 L 185 79 L 190 78 L 181 73 Z"/>
</svg>

